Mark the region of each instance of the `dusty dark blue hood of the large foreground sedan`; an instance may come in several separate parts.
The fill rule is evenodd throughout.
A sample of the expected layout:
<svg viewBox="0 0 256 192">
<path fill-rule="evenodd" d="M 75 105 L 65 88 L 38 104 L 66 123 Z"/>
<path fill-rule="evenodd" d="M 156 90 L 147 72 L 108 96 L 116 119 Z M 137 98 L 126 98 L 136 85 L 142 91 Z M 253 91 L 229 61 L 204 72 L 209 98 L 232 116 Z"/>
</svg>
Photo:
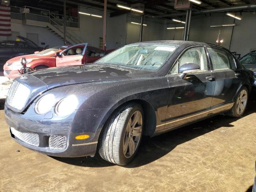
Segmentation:
<svg viewBox="0 0 256 192">
<path fill-rule="evenodd" d="M 52 89 L 59 86 L 88 82 L 148 78 L 153 77 L 155 72 L 139 71 L 132 68 L 120 68 L 104 64 L 87 64 L 82 66 L 48 68 L 30 74 L 44 82 L 48 89 Z"/>
</svg>

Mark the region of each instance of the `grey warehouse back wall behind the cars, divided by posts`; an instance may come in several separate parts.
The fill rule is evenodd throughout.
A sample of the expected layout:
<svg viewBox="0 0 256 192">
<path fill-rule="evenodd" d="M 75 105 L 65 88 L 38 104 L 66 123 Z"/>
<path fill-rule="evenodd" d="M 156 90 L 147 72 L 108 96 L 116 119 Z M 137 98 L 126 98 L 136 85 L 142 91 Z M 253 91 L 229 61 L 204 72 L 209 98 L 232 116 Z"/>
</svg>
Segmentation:
<svg viewBox="0 0 256 192">
<path fill-rule="evenodd" d="M 102 11 L 83 7 L 80 7 L 80 11 L 103 15 Z M 132 24 L 131 22 L 140 23 L 140 16 L 122 14 L 110 18 L 109 13 L 107 16 L 106 46 L 108 49 L 116 49 L 125 44 L 139 41 L 140 25 Z M 103 35 L 103 18 L 81 14 L 79 17 L 80 29 L 73 32 L 80 36 L 84 42 L 88 42 L 91 46 L 99 47 L 100 38 Z M 226 16 L 225 13 L 211 14 L 211 16 L 210 14 L 192 16 L 189 40 L 216 44 L 216 39 L 220 31 L 221 39 L 224 40 L 222 46 L 244 55 L 256 49 L 255 21 L 256 14 L 244 12 L 242 13 L 242 20 L 235 21 L 233 18 Z M 231 24 L 233 22 L 236 24 L 234 30 L 232 26 L 209 27 L 209 25 Z M 143 41 L 183 39 L 184 29 L 167 30 L 166 28 L 184 26 L 184 24 L 177 24 L 171 20 L 163 20 L 162 18 L 156 19 L 149 17 L 144 18 L 144 23 L 147 26 L 143 27 Z M 26 37 L 27 33 L 38 34 L 39 45 L 41 42 L 45 42 L 49 46 L 63 44 L 63 40 L 43 27 L 22 25 L 21 22 L 13 22 L 12 20 L 12 31 L 19 32 L 24 37 Z M 6 37 L 0 37 L 0 40 L 5 39 Z"/>
</svg>

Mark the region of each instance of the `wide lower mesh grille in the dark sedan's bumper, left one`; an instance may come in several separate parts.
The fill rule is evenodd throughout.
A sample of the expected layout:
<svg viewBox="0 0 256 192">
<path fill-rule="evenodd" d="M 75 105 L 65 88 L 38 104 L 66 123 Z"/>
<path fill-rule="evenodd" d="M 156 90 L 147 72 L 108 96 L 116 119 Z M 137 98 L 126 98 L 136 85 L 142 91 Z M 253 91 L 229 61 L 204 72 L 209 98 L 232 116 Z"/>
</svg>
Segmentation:
<svg viewBox="0 0 256 192">
<path fill-rule="evenodd" d="M 36 133 L 32 132 L 20 132 L 15 130 L 14 128 L 11 127 L 12 134 L 19 140 L 22 140 L 23 142 L 34 145 L 34 146 L 39 146 L 39 136 Z"/>
</svg>

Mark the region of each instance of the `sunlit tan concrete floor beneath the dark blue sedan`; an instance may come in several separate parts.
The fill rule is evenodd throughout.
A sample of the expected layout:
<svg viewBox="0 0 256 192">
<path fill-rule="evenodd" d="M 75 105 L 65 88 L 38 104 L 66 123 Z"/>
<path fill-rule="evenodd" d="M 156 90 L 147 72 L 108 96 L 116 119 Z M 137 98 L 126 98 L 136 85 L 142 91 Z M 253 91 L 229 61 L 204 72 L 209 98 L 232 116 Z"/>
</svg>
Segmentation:
<svg viewBox="0 0 256 192">
<path fill-rule="evenodd" d="M 9 136 L 0 110 L 0 191 L 251 191 L 255 95 L 242 118 L 219 115 L 144 138 L 138 155 L 126 167 L 99 156 L 54 158 L 28 150 Z"/>
</svg>

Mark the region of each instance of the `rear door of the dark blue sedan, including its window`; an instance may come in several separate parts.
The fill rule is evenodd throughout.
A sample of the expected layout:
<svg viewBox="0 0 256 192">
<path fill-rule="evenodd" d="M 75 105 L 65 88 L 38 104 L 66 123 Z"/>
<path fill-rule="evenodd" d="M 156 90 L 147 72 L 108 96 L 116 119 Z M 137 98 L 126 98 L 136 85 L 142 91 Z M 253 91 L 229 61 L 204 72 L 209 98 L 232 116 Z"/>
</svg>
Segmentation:
<svg viewBox="0 0 256 192">
<path fill-rule="evenodd" d="M 207 47 L 215 78 L 215 88 L 211 108 L 233 102 L 233 98 L 242 83 L 241 71 L 236 69 L 233 56 L 221 48 Z M 217 112 L 217 111 L 215 111 Z"/>
</svg>

